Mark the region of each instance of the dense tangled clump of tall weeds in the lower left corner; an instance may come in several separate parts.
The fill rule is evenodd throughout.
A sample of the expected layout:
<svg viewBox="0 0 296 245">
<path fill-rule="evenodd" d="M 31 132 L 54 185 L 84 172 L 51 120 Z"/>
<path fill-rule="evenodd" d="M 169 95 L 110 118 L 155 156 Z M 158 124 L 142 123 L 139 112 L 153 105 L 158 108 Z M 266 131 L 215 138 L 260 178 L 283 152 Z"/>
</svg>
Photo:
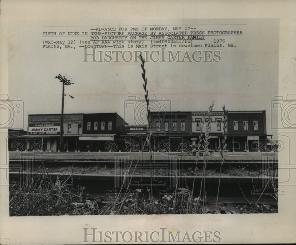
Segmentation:
<svg viewBox="0 0 296 245">
<path fill-rule="evenodd" d="M 34 175 L 30 183 L 9 187 L 9 215 L 97 214 L 96 203 L 83 198 L 83 187 L 74 188 L 73 176 L 52 180 L 46 173 Z"/>
</svg>

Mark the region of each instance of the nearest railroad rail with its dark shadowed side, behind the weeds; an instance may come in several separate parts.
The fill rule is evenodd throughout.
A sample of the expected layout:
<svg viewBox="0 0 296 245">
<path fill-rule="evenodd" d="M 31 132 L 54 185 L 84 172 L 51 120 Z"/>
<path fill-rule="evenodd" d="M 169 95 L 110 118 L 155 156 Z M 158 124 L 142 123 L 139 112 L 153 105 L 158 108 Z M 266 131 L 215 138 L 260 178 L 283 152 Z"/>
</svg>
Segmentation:
<svg viewBox="0 0 296 245">
<path fill-rule="evenodd" d="M 29 180 L 37 178 L 40 173 L 22 173 L 22 172 L 9 172 L 9 181 L 12 185 L 13 183 L 20 182 L 22 180 Z M 114 175 L 94 175 L 94 174 L 63 174 L 63 173 L 47 173 L 46 174 L 50 179 L 54 180 L 59 177 L 60 180 L 68 179 L 69 177 L 73 178 L 73 183 L 75 185 L 84 186 L 86 191 L 89 193 L 90 199 L 97 199 L 101 196 L 112 196 L 115 193 L 119 192 L 120 187 L 124 181 L 123 176 L 114 176 Z M 69 178 L 69 179 L 70 179 Z M 145 190 L 151 187 L 150 176 L 147 175 L 134 175 L 128 176 L 125 179 L 125 185 L 132 178 L 131 181 L 131 190 L 136 188 L 141 188 Z M 155 188 L 159 196 L 164 194 L 172 194 L 175 191 L 176 183 L 178 183 L 180 188 L 188 187 L 192 188 L 193 181 L 194 183 L 194 196 L 198 196 L 200 190 L 200 183 L 202 176 L 179 176 L 178 181 L 176 181 L 176 176 L 163 176 L 155 175 L 153 176 L 152 186 Z M 224 210 L 225 213 L 235 213 L 234 204 L 246 204 L 246 199 L 243 198 L 243 195 L 252 200 L 255 196 L 256 199 L 260 196 L 260 202 L 258 204 L 270 204 L 275 205 L 275 199 L 272 198 L 269 194 L 273 191 L 272 188 L 266 188 L 266 184 L 270 180 L 267 176 L 261 177 L 235 177 L 235 176 L 221 176 L 220 179 L 220 191 L 219 191 L 219 207 L 221 210 Z M 204 178 L 206 191 L 207 191 L 207 208 L 211 211 L 215 208 L 216 195 L 218 190 L 218 176 L 205 176 Z M 278 185 L 278 178 L 274 178 L 274 183 Z M 254 188 L 256 187 L 256 189 Z M 263 194 L 263 195 L 262 195 Z M 101 200 L 102 201 L 102 200 Z M 234 209 L 235 208 L 235 209 Z"/>
</svg>

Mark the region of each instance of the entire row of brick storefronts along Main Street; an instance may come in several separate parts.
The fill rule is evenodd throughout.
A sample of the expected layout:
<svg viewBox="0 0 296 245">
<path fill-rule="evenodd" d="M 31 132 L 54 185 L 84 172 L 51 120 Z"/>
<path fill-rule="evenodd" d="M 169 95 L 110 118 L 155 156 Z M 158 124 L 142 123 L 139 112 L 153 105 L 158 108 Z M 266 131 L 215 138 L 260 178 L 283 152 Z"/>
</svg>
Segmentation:
<svg viewBox="0 0 296 245">
<path fill-rule="evenodd" d="M 269 151 L 265 111 L 227 111 L 226 149 Z M 154 112 L 151 114 L 154 151 L 191 151 L 210 127 L 208 148 L 221 148 L 223 112 Z M 9 137 L 10 151 L 59 151 L 63 129 L 63 151 L 148 151 L 148 125 L 128 125 L 117 113 L 28 115 L 27 132 Z M 12 132 L 12 131 L 11 131 Z"/>
</svg>

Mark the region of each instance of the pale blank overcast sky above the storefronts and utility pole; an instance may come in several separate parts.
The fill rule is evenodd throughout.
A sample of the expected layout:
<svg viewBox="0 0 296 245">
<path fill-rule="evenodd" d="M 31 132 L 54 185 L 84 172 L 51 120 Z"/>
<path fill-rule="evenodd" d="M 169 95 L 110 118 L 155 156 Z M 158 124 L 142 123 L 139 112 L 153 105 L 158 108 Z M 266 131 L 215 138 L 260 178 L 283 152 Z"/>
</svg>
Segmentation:
<svg viewBox="0 0 296 245">
<path fill-rule="evenodd" d="M 133 123 L 133 114 L 125 112 L 124 101 L 144 92 L 140 62 L 82 62 L 81 48 L 43 49 L 43 40 L 52 39 L 43 38 L 42 32 L 51 25 L 56 26 L 52 31 L 62 30 L 57 28 L 60 21 L 10 23 L 9 96 L 24 101 L 25 129 L 28 114 L 61 113 L 62 86 L 55 79 L 59 73 L 75 83 L 66 86 L 66 94 L 75 98 L 66 96 L 64 113 L 117 112 Z M 270 105 L 278 95 L 279 22 L 250 19 L 237 23 L 244 24 L 237 27 L 244 30 L 240 48 L 221 50 L 220 62 L 146 62 L 149 93 L 156 94 L 157 99 L 165 96 L 172 111 L 204 111 L 213 100 L 214 110 L 221 110 L 223 104 L 227 110 L 266 110 L 267 133 L 276 135 L 270 129 Z M 121 24 L 135 25 L 127 21 Z"/>
</svg>

